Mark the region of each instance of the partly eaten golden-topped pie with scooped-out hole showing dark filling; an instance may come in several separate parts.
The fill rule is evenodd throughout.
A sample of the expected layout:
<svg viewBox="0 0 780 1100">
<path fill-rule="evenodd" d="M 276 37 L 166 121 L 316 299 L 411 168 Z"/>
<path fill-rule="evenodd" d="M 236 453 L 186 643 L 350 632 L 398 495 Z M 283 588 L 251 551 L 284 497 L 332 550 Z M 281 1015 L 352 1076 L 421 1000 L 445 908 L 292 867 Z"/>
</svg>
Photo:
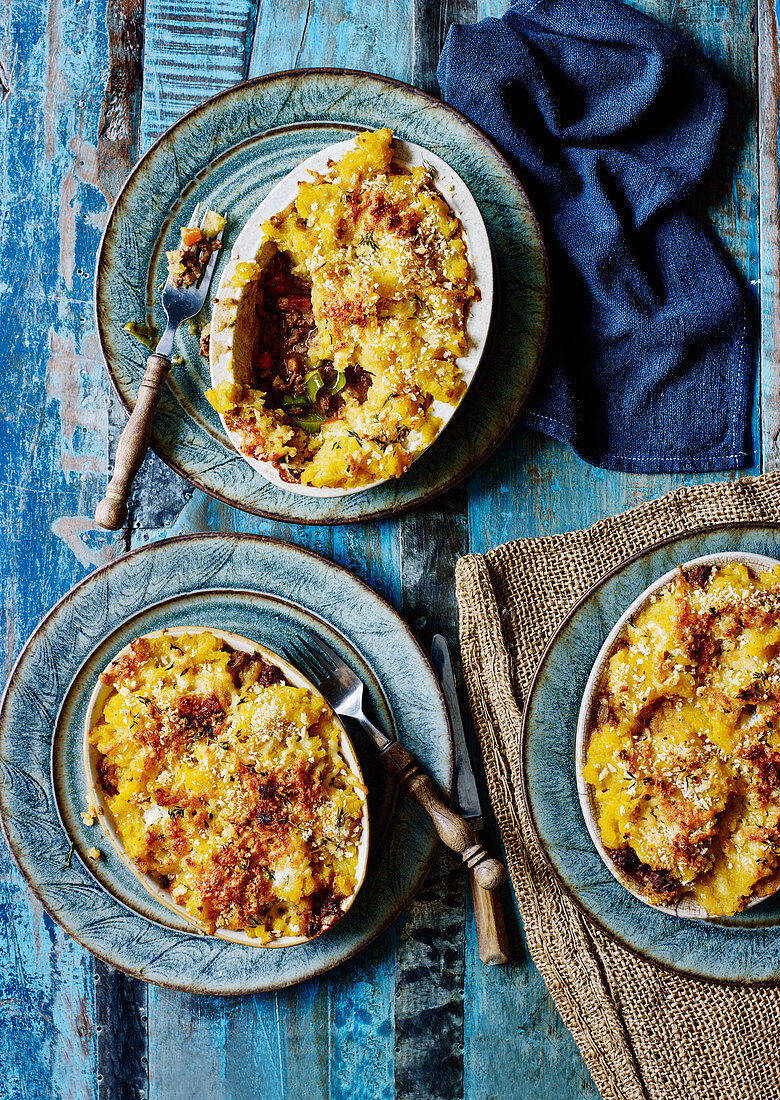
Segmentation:
<svg viewBox="0 0 780 1100">
<path fill-rule="evenodd" d="M 479 290 L 463 228 L 433 169 L 393 156 L 389 130 L 360 134 L 220 285 L 207 397 L 242 453 L 288 483 L 400 476 L 465 388 Z"/>
</svg>

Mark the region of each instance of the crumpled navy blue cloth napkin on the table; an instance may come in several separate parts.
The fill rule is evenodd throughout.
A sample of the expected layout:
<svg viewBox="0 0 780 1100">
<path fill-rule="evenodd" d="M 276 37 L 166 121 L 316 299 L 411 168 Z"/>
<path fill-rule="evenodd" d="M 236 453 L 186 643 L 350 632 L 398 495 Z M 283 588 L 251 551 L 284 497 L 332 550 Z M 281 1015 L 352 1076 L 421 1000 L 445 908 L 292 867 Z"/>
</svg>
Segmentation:
<svg viewBox="0 0 780 1100">
<path fill-rule="evenodd" d="M 521 0 L 452 26 L 438 78 L 514 161 L 549 251 L 525 422 L 611 470 L 750 461 L 746 294 L 685 202 L 726 110 L 711 63 L 618 0 Z"/>
</svg>

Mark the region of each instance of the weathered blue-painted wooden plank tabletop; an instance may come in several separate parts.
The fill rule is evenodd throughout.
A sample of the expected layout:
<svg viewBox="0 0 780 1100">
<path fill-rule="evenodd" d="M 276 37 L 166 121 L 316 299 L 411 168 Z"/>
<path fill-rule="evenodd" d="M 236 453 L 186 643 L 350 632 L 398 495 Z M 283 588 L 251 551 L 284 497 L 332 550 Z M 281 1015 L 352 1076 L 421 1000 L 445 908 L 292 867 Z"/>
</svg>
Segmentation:
<svg viewBox="0 0 780 1100">
<path fill-rule="evenodd" d="M 755 436 L 778 465 L 777 12 L 771 0 L 641 0 L 727 75 L 732 112 L 697 199 L 761 314 Z M 374 585 L 424 642 L 457 631 L 455 559 L 589 525 L 685 476 L 624 475 L 517 429 L 466 484 L 382 522 L 289 528 L 234 512 L 150 457 L 128 527 L 96 529 L 124 414 L 95 336 L 95 257 L 138 156 L 248 76 L 306 66 L 436 92 L 447 28 L 505 0 L 6 0 L 0 40 L 4 668 L 76 581 L 169 535 L 240 530 L 309 546 Z M 758 58 L 758 64 L 757 59 Z M 758 103 L 762 107 L 759 110 Z M 757 466 L 759 465 L 757 461 Z M 717 476 L 717 475 L 712 475 Z M 494 836 L 495 842 L 495 836 Z M 330 975 L 243 999 L 145 986 L 42 912 L 0 846 L 0 1097 L 384 1097 L 592 1100 L 596 1091 L 505 897 L 509 967 L 476 954 L 465 880 L 444 853 L 406 914 Z"/>
</svg>

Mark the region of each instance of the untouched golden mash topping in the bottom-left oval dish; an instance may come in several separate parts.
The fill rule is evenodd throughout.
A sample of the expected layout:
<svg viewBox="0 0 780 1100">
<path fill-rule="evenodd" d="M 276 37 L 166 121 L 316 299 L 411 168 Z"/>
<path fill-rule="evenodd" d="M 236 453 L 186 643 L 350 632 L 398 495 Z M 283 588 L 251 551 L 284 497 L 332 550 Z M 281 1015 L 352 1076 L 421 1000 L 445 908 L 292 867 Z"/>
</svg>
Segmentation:
<svg viewBox="0 0 780 1100">
<path fill-rule="evenodd" d="M 365 789 L 321 696 L 204 631 L 140 638 L 90 733 L 121 842 L 206 927 L 314 936 L 354 893 Z"/>
</svg>

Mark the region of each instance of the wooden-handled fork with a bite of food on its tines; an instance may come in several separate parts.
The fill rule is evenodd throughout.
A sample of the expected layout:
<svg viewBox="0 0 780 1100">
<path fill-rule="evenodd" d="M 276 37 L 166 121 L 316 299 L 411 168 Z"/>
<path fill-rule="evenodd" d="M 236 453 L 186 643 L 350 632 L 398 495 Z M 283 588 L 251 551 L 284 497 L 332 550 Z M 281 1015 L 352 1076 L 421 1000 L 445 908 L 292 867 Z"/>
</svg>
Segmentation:
<svg viewBox="0 0 780 1100">
<path fill-rule="evenodd" d="M 198 202 L 193 211 L 193 217 L 187 222 L 188 229 L 198 224 L 201 206 L 202 204 Z M 206 217 L 205 213 L 204 217 Z M 222 230 L 217 234 L 216 240 L 222 240 Z M 130 487 L 149 450 L 154 410 L 157 408 L 165 380 L 171 370 L 171 352 L 174 346 L 176 329 L 182 321 L 189 320 L 202 309 L 209 293 L 211 276 L 217 266 L 218 255 L 219 250 L 211 253 L 206 271 L 196 286 L 174 286 L 171 276 L 165 280 L 163 309 L 168 324 L 156 349 L 146 360 L 146 371 L 139 387 L 135 408 L 130 414 L 130 419 L 119 437 L 113 476 L 108 483 L 106 496 L 95 509 L 96 521 L 109 531 L 119 530 L 128 518 Z"/>
</svg>

